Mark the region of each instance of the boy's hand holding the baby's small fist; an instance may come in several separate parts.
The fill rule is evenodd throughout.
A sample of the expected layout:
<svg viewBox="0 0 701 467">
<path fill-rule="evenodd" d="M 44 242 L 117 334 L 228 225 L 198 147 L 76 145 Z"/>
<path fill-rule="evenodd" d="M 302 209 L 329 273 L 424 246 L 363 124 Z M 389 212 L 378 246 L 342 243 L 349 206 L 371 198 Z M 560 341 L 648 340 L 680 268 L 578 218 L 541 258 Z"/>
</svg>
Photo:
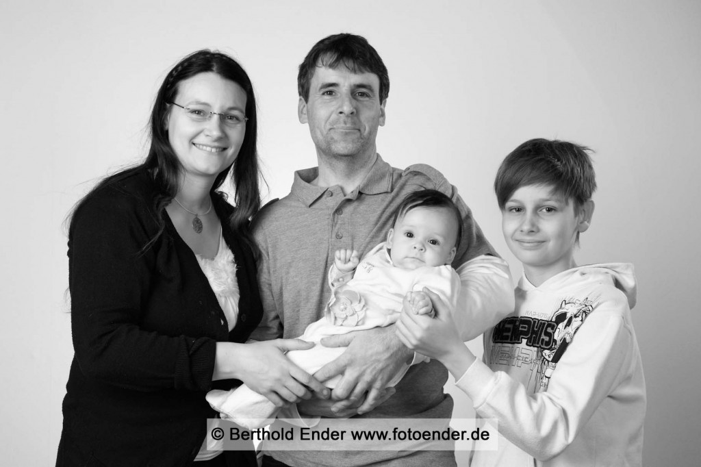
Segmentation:
<svg viewBox="0 0 701 467">
<path fill-rule="evenodd" d="M 397 321 L 397 336 L 402 343 L 430 358 L 436 358 L 454 377 L 461 377 L 475 361 L 475 356 L 461 340 L 448 306 L 434 292 L 424 287 L 435 318 L 416 314 L 407 297 L 404 298 L 402 316 Z"/>
</svg>

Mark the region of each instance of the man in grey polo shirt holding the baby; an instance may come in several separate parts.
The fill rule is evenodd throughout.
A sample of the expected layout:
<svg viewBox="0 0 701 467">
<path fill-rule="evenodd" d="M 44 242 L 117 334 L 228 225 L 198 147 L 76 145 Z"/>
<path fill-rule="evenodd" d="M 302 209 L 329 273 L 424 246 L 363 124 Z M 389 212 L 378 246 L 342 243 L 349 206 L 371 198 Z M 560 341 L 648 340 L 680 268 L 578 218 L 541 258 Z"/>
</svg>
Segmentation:
<svg viewBox="0 0 701 467">
<path fill-rule="evenodd" d="M 361 36 L 329 36 L 308 53 L 297 81 L 299 121 L 309 126 L 318 167 L 295 172 L 291 193 L 255 219 L 265 316 L 252 338 L 297 337 L 320 319 L 330 294 L 327 271 L 334 251 L 351 248 L 362 254 L 383 241 L 397 205 L 423 188 L 451 196 L 463 216 L 463 238 L 453 262 L 461 276 L 456 321 L 463 339 L 510 313 L 508 266 L 496 257 L 455 187 L 428 165 L 400 170 L 377 154 L 389 78 L 376 50 Z M 331 400 L 300 402 L 301 414 L 451 417 L 453 402 L 443 393 L 447 370 L 435 360 L 413 365 L 395 388 L 385 388 L 402 363 L 425 360 L 401 344 L 393 325 L 332 337 L 324 344 L 348 348 L 315 376 L 321 381 L 343 377 Z M 266 441 L 264 466 L 455 464 L 454 453 L 445 451 L 281 452 L 274 445 Z"/>
</svg>

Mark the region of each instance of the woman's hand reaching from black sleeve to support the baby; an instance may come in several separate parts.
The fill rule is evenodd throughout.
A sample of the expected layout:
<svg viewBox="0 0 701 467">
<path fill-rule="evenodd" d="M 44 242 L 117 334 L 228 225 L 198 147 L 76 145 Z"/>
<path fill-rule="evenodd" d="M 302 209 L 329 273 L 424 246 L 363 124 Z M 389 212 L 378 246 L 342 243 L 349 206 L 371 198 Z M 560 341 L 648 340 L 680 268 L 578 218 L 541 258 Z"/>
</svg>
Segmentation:
<svg viewBox="0 0 701 467">
<path fill-rule="evenodd" d="M 300 339 L 275 339 L 248 344 L 217 342 L 212 379 L 240 379 L 277 407 L 311 398 L 310 390 L 318 398 L 325 399 L 330 395 L 329 389 L 285 357 L 286 351 L 307 350 L 313 346 L 313 342 Z"/>
</svg>

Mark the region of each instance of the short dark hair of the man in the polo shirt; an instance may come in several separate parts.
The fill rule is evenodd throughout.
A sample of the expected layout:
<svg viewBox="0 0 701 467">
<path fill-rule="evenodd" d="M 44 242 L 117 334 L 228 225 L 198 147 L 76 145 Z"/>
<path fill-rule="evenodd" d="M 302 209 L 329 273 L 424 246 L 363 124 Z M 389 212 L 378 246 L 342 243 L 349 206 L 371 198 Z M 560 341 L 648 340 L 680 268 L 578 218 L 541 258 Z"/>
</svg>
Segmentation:
<svg viewBox="0 0 701 467">
<path fill-rule="evenodd" d="M 334 34 L 321 39 L 309 50 L 299 65 L 297 92 L 307 102 L 309 85 L 317 67 L 346 67 L 353 73 L 374 73 L 380 79 L 380 102 L 390 94 L 390 76 L 377 50 L 367 39 L 356 34 Z"/>
</svg>

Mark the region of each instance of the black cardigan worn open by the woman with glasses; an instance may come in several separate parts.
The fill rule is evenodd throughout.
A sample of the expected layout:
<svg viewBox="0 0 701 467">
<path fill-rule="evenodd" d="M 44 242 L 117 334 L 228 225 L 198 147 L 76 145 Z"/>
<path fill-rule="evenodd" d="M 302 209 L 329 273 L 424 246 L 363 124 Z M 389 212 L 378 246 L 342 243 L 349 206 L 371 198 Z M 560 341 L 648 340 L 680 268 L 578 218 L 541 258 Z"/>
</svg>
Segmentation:
<svg viewBox="0 0 701 467">
<path fill-rule="evenodd" d="M 252 251 L 226 222 L 233 208 L 214 197 L 240 289 L 229 332 L 195 255 L 165 213 L 165 231 L 143 250 L 158 232 L 155 196 L 149 173 L 133 170 L 74 213 L 68 256 L 75 355 L 58 465 L 189 465 L 205 438 L 205 419 L 216 417 L 205 394 L 240 384 L 212 384 L 215 343 L 244 342 L 262 315 Z"/>
</svg>

